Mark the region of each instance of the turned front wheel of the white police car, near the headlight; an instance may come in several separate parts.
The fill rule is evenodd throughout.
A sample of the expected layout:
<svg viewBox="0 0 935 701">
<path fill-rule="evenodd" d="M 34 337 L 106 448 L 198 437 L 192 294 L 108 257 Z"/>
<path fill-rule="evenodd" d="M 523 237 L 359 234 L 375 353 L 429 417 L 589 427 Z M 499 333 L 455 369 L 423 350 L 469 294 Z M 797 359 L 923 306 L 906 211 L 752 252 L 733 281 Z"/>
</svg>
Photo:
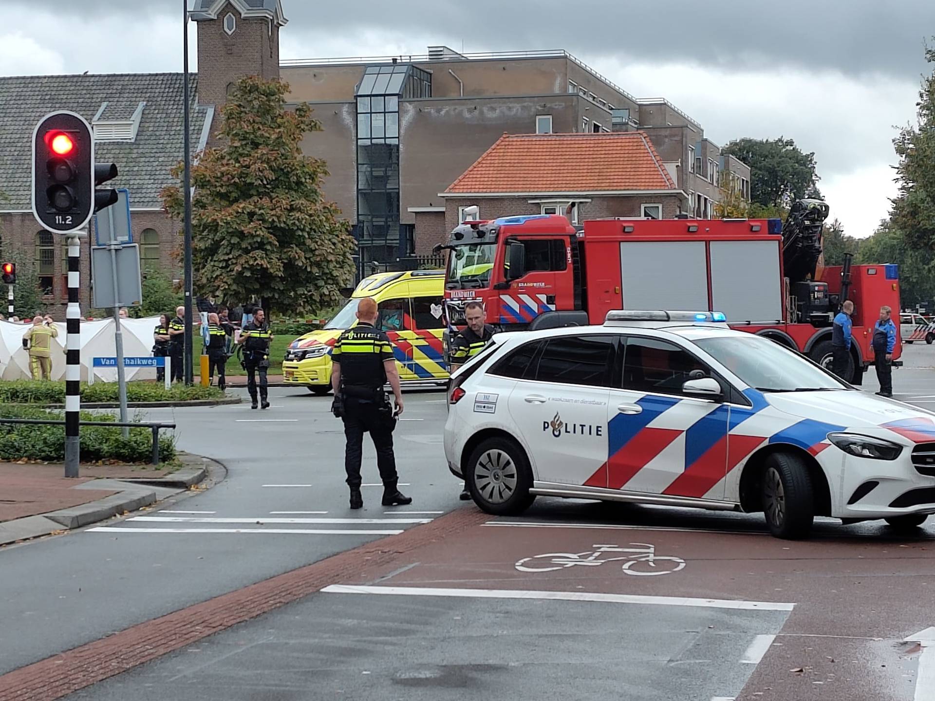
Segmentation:
<svg viewBox="0 0 935 701">
<path fill-rule="evenodd" d="M 808 536 L 814 522 L 814 492 L 805 461 L 791 453 L 773 453 L 767 458 L 762 488 L 770 533 L 789 540 Z"/>
</svg>

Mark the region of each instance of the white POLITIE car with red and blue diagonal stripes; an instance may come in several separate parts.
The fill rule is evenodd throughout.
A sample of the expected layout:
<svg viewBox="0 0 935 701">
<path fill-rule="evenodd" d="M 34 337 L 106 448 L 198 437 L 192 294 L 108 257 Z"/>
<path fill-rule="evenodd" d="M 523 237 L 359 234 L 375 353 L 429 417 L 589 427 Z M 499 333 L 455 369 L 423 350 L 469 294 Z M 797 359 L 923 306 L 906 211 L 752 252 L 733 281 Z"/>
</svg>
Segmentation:
<svg viewBox="0 0 935 701">
<path fill-rule="evenodd" d="M 538 494 L 910 529 L 935 513 L 935 414 L 861 393 L 708 312 L 515 332 L 453 375 L 445 455 L 485 511 Z"/>
</svg>

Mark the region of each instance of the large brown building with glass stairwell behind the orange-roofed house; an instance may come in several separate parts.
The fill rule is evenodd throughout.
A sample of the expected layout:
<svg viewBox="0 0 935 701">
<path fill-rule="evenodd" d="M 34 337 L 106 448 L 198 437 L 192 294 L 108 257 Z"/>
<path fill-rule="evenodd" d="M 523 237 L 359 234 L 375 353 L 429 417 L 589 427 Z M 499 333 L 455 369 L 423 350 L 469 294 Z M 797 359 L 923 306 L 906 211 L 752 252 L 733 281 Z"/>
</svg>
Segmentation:
<svg viewBox="0 0 935 701">
<path fill-rule="evenodd" d="M 664 99 L 626 93 L 566 51 L 430 47 L 423 56 L 282 61 L 281 77 L 323 122 L 305 146 L 327 161 L 325 194 L 354 223 L 363 260 L 430 249 L 425 239 L 439 238 L 446 212 L 439 193 L 504 133 L 639 130 L 680 191 L 667 216 L 712 217 L 722 174 L 749 196 L 750 168 L 723 156 L 698 122 Z"/>
</svg>

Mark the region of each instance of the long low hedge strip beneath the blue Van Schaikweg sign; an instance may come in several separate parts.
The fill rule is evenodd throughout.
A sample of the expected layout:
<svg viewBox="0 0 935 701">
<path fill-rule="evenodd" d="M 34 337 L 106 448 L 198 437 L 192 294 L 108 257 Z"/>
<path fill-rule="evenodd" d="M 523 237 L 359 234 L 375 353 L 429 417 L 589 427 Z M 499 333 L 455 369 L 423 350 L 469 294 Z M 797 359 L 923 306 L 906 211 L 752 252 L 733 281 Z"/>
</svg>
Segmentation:
<svg viewBox="0 0 935 701">
<path fill-rule="evenodd" d="M 119 386 L 116 382 L 96 382 L 81 385 L 81 401 L 87 404 L 117 402 Z M 127 382 L 126 398 L 129 402 L 180 402 L 196 399 L 220 399 L 224 393 L 217 387 L 200 384 L 186 386 L 165 385 L 157 382 Z M 65 404 L 65 382 L 44 382 L 37 379 L 0 380 L 0 404 Z"/>
</svg>

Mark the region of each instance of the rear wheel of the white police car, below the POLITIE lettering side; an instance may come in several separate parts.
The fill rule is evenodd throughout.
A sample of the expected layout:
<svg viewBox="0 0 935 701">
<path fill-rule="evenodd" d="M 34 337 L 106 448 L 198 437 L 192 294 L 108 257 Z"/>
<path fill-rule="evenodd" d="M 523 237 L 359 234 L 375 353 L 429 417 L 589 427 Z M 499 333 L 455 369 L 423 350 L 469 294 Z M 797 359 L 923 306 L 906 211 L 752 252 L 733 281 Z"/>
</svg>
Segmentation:
<svg viewBox="0 0 935 701">
<path fill-rule="evenodd" d="M 525 452 L 509 438 L 488 438 L 471 453 L 465 483 L 487 513 L 519 514 L 536 498 L 529 494 L 532 470 Z"/>
</svg>

